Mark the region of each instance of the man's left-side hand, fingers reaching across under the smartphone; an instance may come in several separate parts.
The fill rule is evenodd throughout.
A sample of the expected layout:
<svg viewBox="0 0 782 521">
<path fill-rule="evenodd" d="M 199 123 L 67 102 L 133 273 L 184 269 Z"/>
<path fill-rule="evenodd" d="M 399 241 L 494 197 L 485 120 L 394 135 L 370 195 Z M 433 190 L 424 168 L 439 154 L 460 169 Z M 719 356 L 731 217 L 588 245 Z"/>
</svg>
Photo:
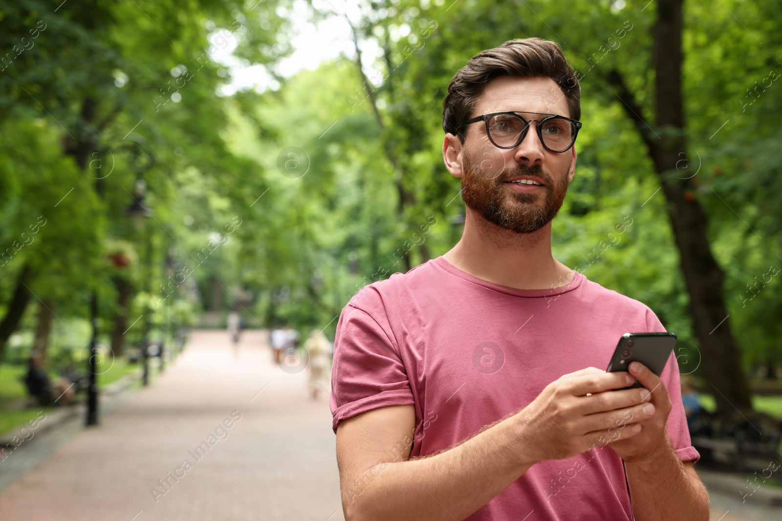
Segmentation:
<svg viewBox="0 0 782 521">
<path fill-rule="evenodd" d="M 639 375 L 641 384 L 651 382 L 650 374 L 647 369 Z M 654 384 L 660 381 L 654 374 L 651 376 L 656 379 Z M 521 442 L 525 454 L 532 456 L 533 462 L 566 459 L 596 445 L 613 442 L 619 444 L 620 450 L 628 457 L 637 457 L 655 436 L 652 434 L 644 437 L 643 443 L 633 444 L 634 437 L 644 429 L 644 423 L 640 422 L 654 418 L 655 405 L 651 406 L 651 411 L 644 411 L 644 407 L 649 406 L 649 391 L 646 389 L 619 391 L 635 381 L 629 373 L 606 373 L 595 367 L 554 380 L 514 416 L 523 433 Z M 667 399 L 662 384 L 655 392 L 661 389 Z M 665 417 L 670 411 L 670 401 L 667 403 Z M 662 419 L 662 425 L 665 425 L 665 419 Z M 650 425 L 650 430 L 657 428 L 656 423 Z"/>
</svg>

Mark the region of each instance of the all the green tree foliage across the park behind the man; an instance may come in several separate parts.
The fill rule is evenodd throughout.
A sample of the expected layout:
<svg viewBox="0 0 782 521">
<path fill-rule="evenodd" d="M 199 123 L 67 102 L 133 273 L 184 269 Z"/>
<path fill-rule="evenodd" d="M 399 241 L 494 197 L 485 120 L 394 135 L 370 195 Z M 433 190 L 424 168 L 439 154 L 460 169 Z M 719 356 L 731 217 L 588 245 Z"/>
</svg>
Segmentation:
<svg viewBox="0 0 782 521">
<path fill-rule="evenodd" d="M 405 257 L 415 266 L 442 255 L 459 237 L 460 185 L 440 152 L 454 72 L 484 48 L 540 36 L 558 41 L 582 78 L 576 178 L 554 220 L 554 255 L 649 305 L 679 335 L 680 364 L 698 366 L 665 199 L 606 80 L 621 73 L 653 123 L 655 4 L 362 2 L 358 37 L 382 51 L 364 66 L 377 113 L 347 56 L 278 78 L 278 90 L 224 95 L 228 72 L 205 54 L 210 34 L 217 47 L 232 34 L 235 56 L 270 70 L 289 52 L 286 11 L 254 4 L 93 0 L 57 13 L 45 2 L 0 5 L 0 52 L 46 24 L 0 72 L 0 247 L 47 219 L 0 266 L 0 311 L 29 263 L 30 288 L 68 324 L 88 316 L 97 291 L 104 333 L 119 310 L 112 280 L 124 277 L 135 295 L 128 326 L 152 308 L 154 335 L 231 307 L 248 327 L 291 323 L 333 335 L 360 287 L 405 271 Z M 685 3 L 690 150 L 676 175 L 694 176 L 691 196 L 708 213 L 730 324 L 750 367 L 782 362 L 782 277 L 766 275 L 782 268 L 782 84 L 769 84 L 782 71 L 774 22 L 782 7 L 723 4 Z M 124 210 L 150 153 L 143 177 L 154 219 L 136 229 Z M 107 261 L 118 253 L 127 266 Z M 141 324 L 128 331 L 131 344 Z M 23 328 L 31 327 L 28 313 Z M 62 327 L 53 346 L 66 342 L 61 335 Z"/>
</svg>

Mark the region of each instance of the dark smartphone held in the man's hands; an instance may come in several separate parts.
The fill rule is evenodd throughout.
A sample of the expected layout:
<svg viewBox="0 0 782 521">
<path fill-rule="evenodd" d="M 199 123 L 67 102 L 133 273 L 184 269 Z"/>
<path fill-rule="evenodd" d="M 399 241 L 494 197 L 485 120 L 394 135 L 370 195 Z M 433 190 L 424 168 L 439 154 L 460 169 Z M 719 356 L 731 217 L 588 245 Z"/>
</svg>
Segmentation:
<svg viewBox="0 0 782 521">
<path fill-rule="evenodd" d="M 640 362 L 647 366 L 652 373 L 660 376 L 674 345 L 676 345 L 676 335 L 673 333 L 623 334 L 619 338 L 619 344 L 616 344 L 614 355 L 605 371 L 606 373 L 626 371 L 630 362 Z M 635 384 L 624 388 L 632 389 L 633 387 L 644 386 L 636 381 Z"/>
</svg>

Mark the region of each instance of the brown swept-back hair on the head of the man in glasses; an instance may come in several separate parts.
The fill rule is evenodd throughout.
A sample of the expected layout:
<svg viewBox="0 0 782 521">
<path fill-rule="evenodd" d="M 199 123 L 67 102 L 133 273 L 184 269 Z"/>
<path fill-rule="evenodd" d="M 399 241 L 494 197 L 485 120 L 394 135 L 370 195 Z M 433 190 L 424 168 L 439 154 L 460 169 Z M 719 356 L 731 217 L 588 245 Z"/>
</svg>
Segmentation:
<svg viewBox="0 0 782 521">
<path fill-rule="evenodd" d="M 454 74 L 443 100 L 443 130 L 456 134 L 464 143 L 467 127 L 457 130 L 457 125 L 470 119 L 483 87 L 490 80 L 504 76 L 550 77 L 568 98 L 569 117 L 574 120 L 581 117 L 581 87 L 562 49 L 554 41 L 523 38 L 479 52 Z"/>
</svg>

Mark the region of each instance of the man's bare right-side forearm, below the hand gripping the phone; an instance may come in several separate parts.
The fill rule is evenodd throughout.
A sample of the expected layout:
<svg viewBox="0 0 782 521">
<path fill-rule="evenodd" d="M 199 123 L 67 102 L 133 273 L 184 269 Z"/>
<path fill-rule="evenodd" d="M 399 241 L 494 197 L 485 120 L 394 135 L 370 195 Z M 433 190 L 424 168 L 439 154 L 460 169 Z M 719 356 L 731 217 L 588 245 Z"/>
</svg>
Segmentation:
<svg viewBox="0 0 782 521">
<path fill-rule="evenodd" d="M 665 437 L 665 448 L 645 462 L 626 462 L 627 483 L 637 521 L 708 520 L 708 493 L 700 481 L 687 473 L 673 444 Z"/>
</svg>

